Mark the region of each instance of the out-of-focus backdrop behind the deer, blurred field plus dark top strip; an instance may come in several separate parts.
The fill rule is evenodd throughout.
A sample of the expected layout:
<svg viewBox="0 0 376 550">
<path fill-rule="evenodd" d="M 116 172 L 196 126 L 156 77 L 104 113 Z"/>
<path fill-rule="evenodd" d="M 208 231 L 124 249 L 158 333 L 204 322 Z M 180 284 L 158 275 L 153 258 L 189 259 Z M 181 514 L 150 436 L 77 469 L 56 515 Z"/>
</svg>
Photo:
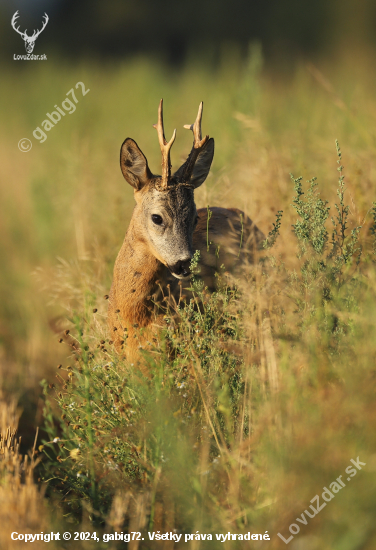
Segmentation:
<svg viewBox="0 0 376 550">
<path fill-rule="evenodd" d="M 16 10 L 29 35 L 48 14 L 33 52 L 46 61 L 13 59 L 25 54 Z M 338 138 L 356 223 L 374 198 L 375 26 L 373 0 L 2 0 L 0 374 L 23 410 L 25 447 L 40 421 L 39 380 L 66 353 L 63 294 L 75 296 L 82 266 L 110 288 L 133 208 L 122 141 L 133 137 L 158 172 L 163 97 L 177 167 L 191 145 L 182 126 L 203 100 L 216 154 L 198 206 L 240 206 L 268 232 L 278 209 L 291 216 L 290 172 L 335 195 Z M 39 142 L 34 130 L 72 88 L 75 111 Z M 106 303 L 98 308 L 105 316 Z"/>
</svg>

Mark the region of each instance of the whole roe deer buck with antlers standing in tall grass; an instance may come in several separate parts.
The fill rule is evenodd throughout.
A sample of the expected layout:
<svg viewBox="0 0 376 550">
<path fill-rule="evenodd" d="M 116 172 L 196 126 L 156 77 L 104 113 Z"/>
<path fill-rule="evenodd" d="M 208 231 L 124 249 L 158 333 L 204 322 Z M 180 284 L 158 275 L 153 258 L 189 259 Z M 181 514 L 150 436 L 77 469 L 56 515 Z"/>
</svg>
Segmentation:
<svg viewBox="0 0 376 550">
<path fill-rule="evenodd" d="M 254 249 L 260 248 L 265 238 L 236 208 L 196 210 L 193 192 L 204 183 L 214 156 L 213 138 L 201 137 L 202 109 L 201 103 L 195 123 L 184 126 L 193 131 L 193 147 L 173 175 L 170 149 L 176 130 L 167 143 L 163 100 L 159 104 L 158 123 L 154 125 L 162 153 L 162 175 L 151 173 L 146 157 L 133 139 L 127 138 L 121 146 L 120 167 L 125 180 L 134 188 L 136 206 L 115 262 L 108 322 L 118 351 L 123 349 L 123 331 L 127 331 L 124 351 L 130 360 L 137 358 L 140 343 L 150 340 L 155 332 L 153 302 L 161 297 L 161 288 L 169 283 L 170 294 L 179 296 L 179 279 L 189 278 L 195 250 L 200 251 L 200 276 L 214 290 L 217 266 L 224 264 L 231 269 L 244 257 L 252 261 Z M 213 244 L 208 247 L 208 243 Z M 144 330 L 140 336 L 141 328 Z"/>
</svg>

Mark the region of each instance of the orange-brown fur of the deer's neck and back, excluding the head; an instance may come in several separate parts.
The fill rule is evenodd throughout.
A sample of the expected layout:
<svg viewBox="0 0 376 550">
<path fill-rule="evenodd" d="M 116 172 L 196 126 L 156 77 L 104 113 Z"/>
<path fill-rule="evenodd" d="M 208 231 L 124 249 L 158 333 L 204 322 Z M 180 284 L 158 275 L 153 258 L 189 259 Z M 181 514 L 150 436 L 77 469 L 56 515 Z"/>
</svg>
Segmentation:
<svg viewBox="0 0 376 550">
<path fill-rule="evenodd" d="M 207 209 L 197 211 L 199 220 L 193 233 L 193 248 L 200 250 L 200 276 L 209 290 L 213 291 L 215 272 L 219 271 L 219 267 L 224 264 L 228 271 L 236 272 L 236 269 L 244 264 L 245 258 L 252 262 L 254 249 L 260 248 L 265 237 L 237 208 L 213 207 L 210 210 L 212 216 L 209 221 L 209 233 Z M 176 300 L 180 294 L 178 279 L 155 257 L 138 230 L 137 221 L 133 216 L 115 262 L 108 310 L 111 338 L 115 341 L 118 351 L 123 349 L 130 361 L 137 360 L 139 346 L 150 342 L 158 334 L 160 322 L 158 323 L 158 312 L 153 307 L 153 302 L 162 297 L 160 286 L 164 287 L 165 293 L 168 294 L 166 285 L 170 284 L 170 292 Z M 209 242 L 213 243 L 209 246 L 209 252 L 207 235 Z M 216 255 L 218 245 L 219 255 Z M 183 282 L 183 287 L 185 286 L 189 286 L 188 281 Z M 189 292 L 184 291 L 184 294 L 190 297 Z M 126 332 L 124 328 L 127 329 Z M 141 328 L 144 330 L 140 331 Z M 124 334 L 128 334 L 128 339 L 122 346 Z"/>
</svg>

